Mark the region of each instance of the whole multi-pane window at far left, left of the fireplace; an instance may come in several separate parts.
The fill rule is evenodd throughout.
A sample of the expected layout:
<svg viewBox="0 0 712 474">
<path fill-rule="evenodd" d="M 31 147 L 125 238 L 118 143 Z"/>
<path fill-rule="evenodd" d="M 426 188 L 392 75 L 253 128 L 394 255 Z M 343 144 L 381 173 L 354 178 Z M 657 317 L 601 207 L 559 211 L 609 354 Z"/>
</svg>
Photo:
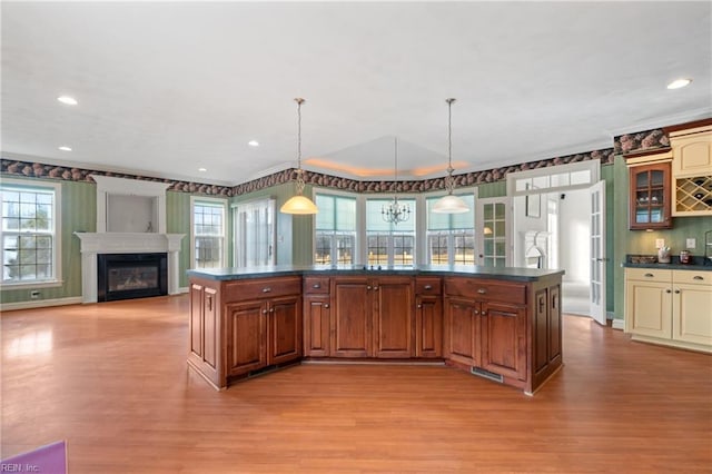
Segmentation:
<svg viewBox="0 0 712 474">
<path fill-rule="evenodd" d="M 2 284 L 59 283 L 61 185 L 3 179 Z"/>
</svg>

